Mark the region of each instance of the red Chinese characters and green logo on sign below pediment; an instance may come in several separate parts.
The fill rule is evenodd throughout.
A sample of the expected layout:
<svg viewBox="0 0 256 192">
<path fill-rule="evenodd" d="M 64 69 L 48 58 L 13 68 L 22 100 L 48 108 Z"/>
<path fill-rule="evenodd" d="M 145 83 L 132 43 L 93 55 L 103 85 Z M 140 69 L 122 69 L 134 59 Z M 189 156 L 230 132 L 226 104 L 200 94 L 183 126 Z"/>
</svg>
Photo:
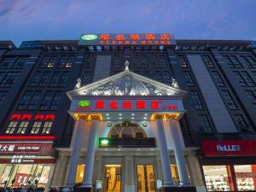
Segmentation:
<svg viewBox="0 0 256 192">
<path fill-rule="evenodd" d="M 85 106 L 84 103 L 87 103 Z M 90 103 L 90 105 L 88 105 Z M 75 109 L 82 110 L 177 110 L 176 104 L 164 103 L 161 100 L 122 100 L 122 101 L 79 101 Z"/>
</svg>

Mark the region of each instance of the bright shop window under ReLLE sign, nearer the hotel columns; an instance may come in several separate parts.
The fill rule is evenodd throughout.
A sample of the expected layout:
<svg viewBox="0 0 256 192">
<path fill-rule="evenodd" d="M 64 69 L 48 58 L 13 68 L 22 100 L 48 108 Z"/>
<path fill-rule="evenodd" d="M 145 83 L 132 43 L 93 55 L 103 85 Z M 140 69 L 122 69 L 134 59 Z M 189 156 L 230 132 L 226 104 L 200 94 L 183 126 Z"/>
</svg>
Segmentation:
<svg viewBox="0 0 256 192">
<path fill-rule="evenodd" d="M 229 191 L 230 178 L 227 166 L 203 166 L 207 191 Z"/>
</svg>

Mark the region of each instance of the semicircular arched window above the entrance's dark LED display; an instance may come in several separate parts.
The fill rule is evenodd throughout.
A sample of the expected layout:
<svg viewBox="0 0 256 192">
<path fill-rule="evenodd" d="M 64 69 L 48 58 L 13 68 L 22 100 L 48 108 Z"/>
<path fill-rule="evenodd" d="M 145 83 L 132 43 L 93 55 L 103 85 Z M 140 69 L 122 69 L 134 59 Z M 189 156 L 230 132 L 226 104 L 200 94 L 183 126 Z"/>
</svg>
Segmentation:
<svg viewBox="0 0 256 192">
<path fill-rule="evenodd" d="M 131 121 L 123 121 L 113 126 L 109 131 L 108 137 L 111 138 L 143 138 L 147 137 L 140 125 Z"/>
</svg>

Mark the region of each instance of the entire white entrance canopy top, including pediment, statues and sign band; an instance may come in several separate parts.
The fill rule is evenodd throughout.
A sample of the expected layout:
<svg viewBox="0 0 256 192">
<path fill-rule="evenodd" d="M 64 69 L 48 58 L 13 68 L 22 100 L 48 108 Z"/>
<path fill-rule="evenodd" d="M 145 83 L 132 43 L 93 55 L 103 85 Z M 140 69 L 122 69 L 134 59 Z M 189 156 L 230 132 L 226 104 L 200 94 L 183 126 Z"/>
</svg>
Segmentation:
<svg viewBox="0 0 256 192">
<path fill-rule="evenodd" d="M 92 84 L 67 92 L 72 101 L 68 111 L 74 119 L 149 120 L 156 115 L 172 115 L 177 119 L 184 113 L 183 96 L 173 79 L 173 86 L 132 73 L 125 62 L 125 71 Z M 175 87 L 176 88 L 175 88 Z"/>
</svg>

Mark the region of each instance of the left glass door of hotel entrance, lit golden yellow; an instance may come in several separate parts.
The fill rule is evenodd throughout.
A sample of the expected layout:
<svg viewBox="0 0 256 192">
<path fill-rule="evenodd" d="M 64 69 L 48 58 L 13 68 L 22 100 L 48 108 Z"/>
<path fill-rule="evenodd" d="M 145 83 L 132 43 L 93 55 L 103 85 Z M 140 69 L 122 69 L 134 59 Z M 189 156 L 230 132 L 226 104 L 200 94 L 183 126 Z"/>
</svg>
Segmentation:
<svg viewBox="0 0 256 192">
<path fill-rule="evenodd" d="M 105 165 L 104 191 L 121 191 L 121 165 Z"/>
</svg>

